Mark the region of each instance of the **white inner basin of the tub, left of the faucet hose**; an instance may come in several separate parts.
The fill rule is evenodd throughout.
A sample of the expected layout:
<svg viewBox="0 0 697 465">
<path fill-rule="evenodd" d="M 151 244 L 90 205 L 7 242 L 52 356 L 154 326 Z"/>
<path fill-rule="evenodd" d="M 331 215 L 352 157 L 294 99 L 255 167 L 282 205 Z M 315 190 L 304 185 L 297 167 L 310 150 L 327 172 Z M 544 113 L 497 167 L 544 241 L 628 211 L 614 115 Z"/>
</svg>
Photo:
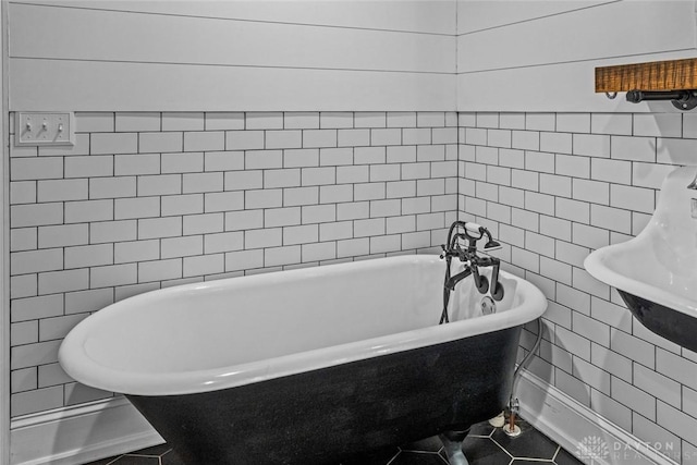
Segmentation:
<svg viewBox="0 0 697 465">
<path fill-rule="evenodd" d="M 227 285 L 144 296 L 123 303 L 120 318 L 95 326 L 85 351 L 115 369 L 201 370 L 438 322 L 444 264 L 371 265 L 274 273 L 273 280 L 233 279 Z"/>
</svg>

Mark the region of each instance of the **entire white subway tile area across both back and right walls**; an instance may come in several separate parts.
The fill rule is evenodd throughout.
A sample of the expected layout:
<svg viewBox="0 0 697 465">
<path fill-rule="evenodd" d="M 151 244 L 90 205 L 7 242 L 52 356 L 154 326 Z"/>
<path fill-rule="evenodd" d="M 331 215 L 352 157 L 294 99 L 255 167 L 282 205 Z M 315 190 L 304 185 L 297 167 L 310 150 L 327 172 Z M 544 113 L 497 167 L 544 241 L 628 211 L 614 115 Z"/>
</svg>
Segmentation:
<svg viewBox="0 0 697 465">
<path fill-rule="evenodd" d="M 57 363 L 106 305 L 436 252 L 458 217 L 490 228 L 505 268 L 549 298 L 534 374 L 641 440 L 697 450 L 697 354 L 583 268 L 644 228 L 663 176 L 694 156 L 693 115 L 101 112 L 77 113 L 76 131 L 72 149 L 11 147 L 14 417 L 112 395 Z"/>
</svg>

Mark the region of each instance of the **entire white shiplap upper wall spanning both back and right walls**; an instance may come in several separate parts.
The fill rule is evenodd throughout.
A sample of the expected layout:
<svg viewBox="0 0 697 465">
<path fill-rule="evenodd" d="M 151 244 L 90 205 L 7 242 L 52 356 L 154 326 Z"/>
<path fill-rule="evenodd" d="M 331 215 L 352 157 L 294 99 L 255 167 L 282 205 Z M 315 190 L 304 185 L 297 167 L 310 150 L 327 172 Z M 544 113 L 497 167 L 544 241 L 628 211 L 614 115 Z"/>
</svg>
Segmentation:
<svg viewBox="0 0 697 465">
<path fill-rule="evenodd" d="M 677 111 L 595 68 L 697 57 L 694 0 L 10 0 L 11 110 Z"/>
</svg>

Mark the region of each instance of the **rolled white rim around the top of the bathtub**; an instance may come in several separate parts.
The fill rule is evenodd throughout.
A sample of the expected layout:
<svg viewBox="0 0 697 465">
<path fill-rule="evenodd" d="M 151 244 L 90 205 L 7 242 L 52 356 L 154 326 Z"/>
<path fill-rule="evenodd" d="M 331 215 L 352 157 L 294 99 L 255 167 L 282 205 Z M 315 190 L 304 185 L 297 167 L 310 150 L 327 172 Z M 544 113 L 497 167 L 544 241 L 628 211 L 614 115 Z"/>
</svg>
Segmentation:
<svg viewBox="0 0 697 465">
<path fill-rule="evenodd" d="M 370 267 L 383 260 L 396 261 L 441 261 L 438 255 L 401 255 L 371 260 L 352 261 L 295 270 L 282 271 L 284 279 L 293 279 L 303 274 L 341 272 L 345 267 Z M 442 261 L 441 261 L 442 262 Z M 444 265 L 444 262 L 443 262 Z M 81 321 L 64 338 L 59 348 L 58 358 L 65 372 L 76 381 L 101 389 L 132 395 L 181 395 L 217 391 L 239 386 L 252 384 L 269 379 L 281 378 L 298 372 L 328 368 L 351 362 L 374 358 L 391 353 L 415 350 L 424 346 L 451 342 L 486 332 L 502 330 L 524 325 L 540 317 L 547 309 L 547 298 L 533 283 L 501 270 L 504 278 L 517 282 L 517 291 L 525 297 L 523 302 L 506 311 L 494 313 L 466 320 L 436 325 L 438 315 L 433 316 L 435 325 L 426 328 L 395 332 L 387 335 L 364 339 L 329 347 L 314 348 L 289 355 L 216 367 L 201 370 L 144 374 L 110 368 L 89 357 L 83 345 L 89 336 L 89 330 L 102 320 L 108 320 L 121 307 L 145 304 L 154 298 L 166 298 L 170 294 L 203 289 L 217 289 L 234 283 L 234 285 L 253 284 L 264 281 L 271 274 L 279 278 L 280 271 L 270 273 L 227 278 L 204 283 L 184 284 L 174 287 L 150 291 L 118 303 L 108 305 Z M 237 280 L 237 281 L 233 281 Z M 244 281 L 242 281 L 244 280 Z"/>
</svg>

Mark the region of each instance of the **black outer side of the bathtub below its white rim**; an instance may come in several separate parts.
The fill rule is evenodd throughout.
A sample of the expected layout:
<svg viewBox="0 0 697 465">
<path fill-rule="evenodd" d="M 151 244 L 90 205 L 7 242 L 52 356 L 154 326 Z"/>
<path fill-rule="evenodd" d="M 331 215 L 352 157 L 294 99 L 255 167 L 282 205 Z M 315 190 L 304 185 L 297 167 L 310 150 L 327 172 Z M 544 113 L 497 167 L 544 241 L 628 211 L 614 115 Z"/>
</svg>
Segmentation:
<svg viewBox="0 0 697 465">
<path fill-rule="evenodd" d="M 187 465 L 335 464 L 496 416 L 521 328 L 221 391 L 127 395 Z"/>
</svg>

